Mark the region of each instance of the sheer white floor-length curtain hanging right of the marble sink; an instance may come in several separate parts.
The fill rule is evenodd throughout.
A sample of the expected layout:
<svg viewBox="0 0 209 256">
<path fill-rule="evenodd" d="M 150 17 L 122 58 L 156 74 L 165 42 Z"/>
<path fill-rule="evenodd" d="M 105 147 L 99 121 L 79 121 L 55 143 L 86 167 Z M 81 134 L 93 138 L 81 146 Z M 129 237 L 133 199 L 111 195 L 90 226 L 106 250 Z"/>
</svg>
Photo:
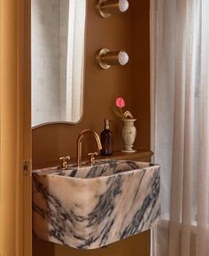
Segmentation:
<svg viewBox="0 0 209 256">
<path fill-rule="evenodd" d="M 209 1 L 151 0 L 152 255 L 209 255 Z"/>
</svg>

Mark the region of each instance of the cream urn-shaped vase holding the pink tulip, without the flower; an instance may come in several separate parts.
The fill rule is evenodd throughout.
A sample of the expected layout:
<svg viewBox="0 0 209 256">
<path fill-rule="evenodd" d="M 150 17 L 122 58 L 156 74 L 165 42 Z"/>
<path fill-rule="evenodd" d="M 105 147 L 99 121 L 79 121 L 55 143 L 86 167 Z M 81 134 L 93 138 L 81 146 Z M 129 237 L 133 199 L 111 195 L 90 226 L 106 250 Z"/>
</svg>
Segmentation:
<svg viewBox="0 0 209 256">
<path fill-rule="evenodd" d="M 122 119 L 123 127 L 121 136 L 125 146 L 125 148 L 121 150 L 122 152 L 133 153 L 136 151 L 133 149 L 136 137 L 135 121 L 136 119 Z"/>
</svg>

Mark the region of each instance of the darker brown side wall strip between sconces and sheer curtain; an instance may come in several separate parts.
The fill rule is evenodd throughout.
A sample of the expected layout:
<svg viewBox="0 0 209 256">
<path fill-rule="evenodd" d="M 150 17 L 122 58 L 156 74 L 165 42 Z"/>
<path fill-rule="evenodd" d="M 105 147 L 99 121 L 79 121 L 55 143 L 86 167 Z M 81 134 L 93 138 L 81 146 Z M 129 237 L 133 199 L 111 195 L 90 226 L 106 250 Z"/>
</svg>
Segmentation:
<svg viewBox="0 0 209 256">
<path fill-rule="evenodd" d="M 138 136 L 135 145 L 150 149 L 150 1 L 132 0 L 131 14 L 131 95 L 132 108 L 137 119 Z"/>
</svg>

